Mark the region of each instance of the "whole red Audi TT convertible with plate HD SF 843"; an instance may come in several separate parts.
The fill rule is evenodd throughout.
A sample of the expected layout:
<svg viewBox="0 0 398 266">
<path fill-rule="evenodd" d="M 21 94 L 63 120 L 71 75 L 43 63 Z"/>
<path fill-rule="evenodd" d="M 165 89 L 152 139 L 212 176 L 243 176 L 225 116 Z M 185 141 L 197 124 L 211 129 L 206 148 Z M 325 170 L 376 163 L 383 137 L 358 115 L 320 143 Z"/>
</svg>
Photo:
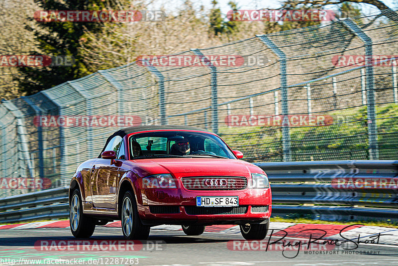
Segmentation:
<svg viewBox="0 0 398 266">
<path fill-rule="evenodd" d="M 239 225 L 245 239 L 264 239 L 271 216 L 268 177 L 242 157 L 199 128 L 119 130 L 71 180 L 72 234 L 90 237 L 96 225 L 121 220 L 126 239 L 146 239 L 162 224 L 181 225 L 190 236 L 208 225 Z"/>
</svg>

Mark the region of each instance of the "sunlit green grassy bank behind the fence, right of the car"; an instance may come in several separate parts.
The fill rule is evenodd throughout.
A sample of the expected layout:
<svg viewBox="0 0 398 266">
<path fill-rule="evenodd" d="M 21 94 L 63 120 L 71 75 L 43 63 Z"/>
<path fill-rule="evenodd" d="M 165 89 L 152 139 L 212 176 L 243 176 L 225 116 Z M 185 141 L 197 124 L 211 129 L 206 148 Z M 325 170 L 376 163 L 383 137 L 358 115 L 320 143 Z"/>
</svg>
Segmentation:
<svg viewBox="0 0 398 266">
<path fill-rule="evenodd" d="M 398 105 L 376 107 L 379 158 L 396 159 L 398 150 Z M 320 114 L 318 114 L 320 115 Z M 292 127 L 293 161 L 369 159 L 366 107 L 322 114 L 333 123 L 315 127 Z M 233 149 L 244 153 L 248 161 L 282 161 L 280 127 L 219 128 L 220 136 Z"/>
</svg>

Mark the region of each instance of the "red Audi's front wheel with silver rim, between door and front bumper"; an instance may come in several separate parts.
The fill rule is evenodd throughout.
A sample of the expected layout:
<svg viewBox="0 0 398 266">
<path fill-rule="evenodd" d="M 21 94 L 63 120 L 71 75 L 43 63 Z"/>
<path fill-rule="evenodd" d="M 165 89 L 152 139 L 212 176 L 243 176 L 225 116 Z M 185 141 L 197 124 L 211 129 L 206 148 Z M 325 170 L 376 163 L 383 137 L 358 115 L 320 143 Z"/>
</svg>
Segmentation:
<svg viewBox="0 0 398 266">
<path fill-rule="evenodd" d="M 128 204 L 131 206 L 128 206 Z M 120 220 L 124 238 L 128 240 L 146 240 L 149 236 L 151 227 L 142 224 L 138 216 L 137 204 L 131 191 L 124 193 L 120 207 L 122 208 Z"/>
</svg>

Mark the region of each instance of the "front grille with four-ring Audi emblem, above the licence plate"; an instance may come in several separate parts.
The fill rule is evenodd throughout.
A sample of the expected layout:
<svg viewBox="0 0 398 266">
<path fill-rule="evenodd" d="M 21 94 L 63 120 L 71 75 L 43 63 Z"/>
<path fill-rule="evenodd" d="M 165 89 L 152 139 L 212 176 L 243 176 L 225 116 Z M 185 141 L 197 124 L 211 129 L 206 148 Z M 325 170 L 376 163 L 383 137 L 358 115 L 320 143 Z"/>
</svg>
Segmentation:
<svg viewBox="0 0 398 266">
<path fill-rule="evenodd" d="M 190 176 L 181 178 L 188 190 L 240 190 L 247 187 L 243 176 Z"/>
</svg>

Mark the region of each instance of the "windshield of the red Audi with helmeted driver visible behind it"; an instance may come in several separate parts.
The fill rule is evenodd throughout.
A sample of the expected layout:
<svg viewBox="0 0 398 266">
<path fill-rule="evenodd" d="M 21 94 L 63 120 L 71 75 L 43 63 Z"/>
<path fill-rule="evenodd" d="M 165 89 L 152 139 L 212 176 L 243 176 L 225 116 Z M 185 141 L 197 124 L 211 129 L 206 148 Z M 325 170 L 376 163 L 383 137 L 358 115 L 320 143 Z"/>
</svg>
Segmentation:
<svg viewBox="0 0 398 266">
<path fill-rule="evenodd" d="M 129 138 L 134 158 L 208 157 L 235 159 L 228 146 L 209 133 L 189 131 L 158 131 L 138 133 Z"/>
</svg>

